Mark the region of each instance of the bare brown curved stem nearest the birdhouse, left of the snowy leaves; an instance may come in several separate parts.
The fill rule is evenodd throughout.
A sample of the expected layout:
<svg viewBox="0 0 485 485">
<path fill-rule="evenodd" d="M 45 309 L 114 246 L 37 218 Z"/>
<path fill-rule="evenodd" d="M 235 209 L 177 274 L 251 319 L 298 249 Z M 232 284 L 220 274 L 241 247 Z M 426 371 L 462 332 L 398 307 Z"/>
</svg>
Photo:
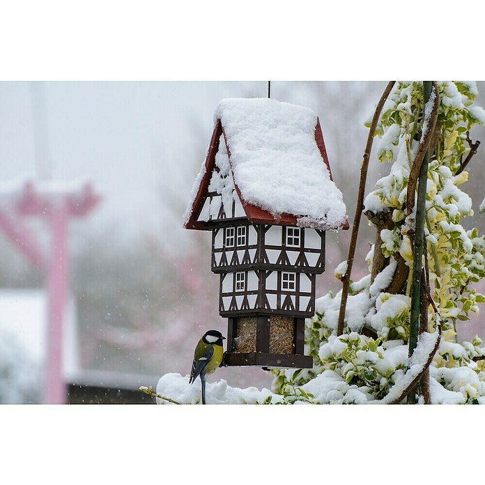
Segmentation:
<svg viewBox="0 0 485 485">
<path fill-rule="evenodd" d="M 357 234 L 359 232 L 359 225 L 360 225 L 360 217 L 362 216 L 362 210 L 364 209 L 364 192 L 365 192 L 365 183 L 367 180 L 367 169 L 369 167 L 369 158 L 371 156 L 371 148 L 372 143 L 374 141 L 374 135 L 376 134 L 377 123 L 379 121 L 380 111 L 382 111 L 385 101 L 387 97 L 390 95 L 392 88 L 394 87 L 395 81 L 390 81 L 385 90 L 383 95 L 380 97 L 380 100 L 376 106 L 376 111 L 374 111 L 374 116 L 372 117 L 371 127 L 369 128 L 369 135 L 367 137 L 367 144 L 364 151 L 364 157 L 362 160 L 362 166 L 360 167 L 360 183 L 359 183 L 359 192 L 357 196 L 357 205 L 355 206 L 355 216 L 352 228 L 352 235 L 351 235 L 351 243 L 348 248 L 348 258 L 347 258 L 347 271 L 344 277 L 342 278 L 342 296 L 340 301 L 340 312 L 339 312 L 339 323 L 337 325 L 337 335 L 341 335 L 344 333 L 344 319 L 345 319 L 345 310 L 347 306 L 347 298 L 348 298 L 348 285 L 351 281 L 351 272 L 352 272 L 352 265 L 353 259 L 355 256 L 355 247 L 357 246 Z"/>
</svg>

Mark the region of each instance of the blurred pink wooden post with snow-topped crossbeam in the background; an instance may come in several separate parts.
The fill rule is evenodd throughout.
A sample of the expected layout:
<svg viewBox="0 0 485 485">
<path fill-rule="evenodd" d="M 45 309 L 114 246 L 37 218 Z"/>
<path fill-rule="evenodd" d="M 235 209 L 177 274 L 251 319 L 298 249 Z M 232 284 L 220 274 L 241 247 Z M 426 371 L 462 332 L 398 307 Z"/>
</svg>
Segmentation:
<svg viewBox="0 0 485 485">
<path fill-rule="evenodd" d="M 34 267 L 47 272 L 47 362 L 43 402 L 66 402 L 63 378 L 63 320 L 68 295 L 68 224 L 84 217 L 100 197 L 91 184 L 61 184 L 23 181 L 0 187 L 0 228 Z M 26 216 L 40 217 L 49 224 L 50 254 L 46 258 L 34 234 L 24 226 Z"/>
</svg>

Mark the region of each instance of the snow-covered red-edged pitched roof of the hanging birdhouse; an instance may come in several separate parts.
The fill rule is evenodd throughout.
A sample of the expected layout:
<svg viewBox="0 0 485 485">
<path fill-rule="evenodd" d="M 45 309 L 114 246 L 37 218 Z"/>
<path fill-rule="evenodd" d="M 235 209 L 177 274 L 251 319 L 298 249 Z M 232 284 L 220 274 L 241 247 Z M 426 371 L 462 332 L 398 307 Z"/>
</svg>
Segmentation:
<svg viewBox="0 0 485 485">
<path fill-rule="evenodd" d="M 346 206 L 332 180 L 314 111 L 268 98 L 229 98 L 217 105 L 214 120 L 213 141 L 185 212 L 186 227 L 203 229 L 194 221 L 208 189 L 220 134 L 234 189 L 249 220 L 262 210 L 279 224 L 346 226 Z M 219 158 L 220 170 L 224 157 Z"/>
</svg>

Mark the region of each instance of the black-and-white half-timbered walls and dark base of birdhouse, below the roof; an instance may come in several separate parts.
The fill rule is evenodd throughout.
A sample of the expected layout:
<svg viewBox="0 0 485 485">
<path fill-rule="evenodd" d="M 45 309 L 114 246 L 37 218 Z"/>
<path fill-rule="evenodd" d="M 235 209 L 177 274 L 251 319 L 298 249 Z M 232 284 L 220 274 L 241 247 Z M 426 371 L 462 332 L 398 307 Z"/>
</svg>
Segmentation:
<svg viewBox="0 0 485 485">
<path fill-rule="evenodd" d="M 226 364 L 311 367 L 303 337 L 305 318 L 315 311 L 316 275 L 325 270 L 325 231 L 251 224 L 240 216 L 242 204 L 237 200 L 229 206 L 230 213 L 225 210 L 228 204 L 215 196 L 206 204 L 206 225 L 213 233 L 211 269 L 220 275 L 219 311 L 229 322 Z M 254 341 L 249 351 L 238 351 L 238 322 L 249 316 L 254 317 L 254 337 L 245 340 Z M 272 329 L 275 316 L 291 319 L 291 346 L 285 353 L 270 348 L 277 331 Z"/>
</svg>

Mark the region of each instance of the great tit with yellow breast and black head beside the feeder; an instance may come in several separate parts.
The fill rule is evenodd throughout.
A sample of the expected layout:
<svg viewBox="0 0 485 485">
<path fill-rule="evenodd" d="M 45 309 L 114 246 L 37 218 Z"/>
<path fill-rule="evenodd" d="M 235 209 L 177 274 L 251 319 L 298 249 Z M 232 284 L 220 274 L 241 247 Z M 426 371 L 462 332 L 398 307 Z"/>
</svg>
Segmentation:
<svg viewBox="0 0 485 485">
<path fill-rule="evenodd" d="M 206 376 L 212 374 L 217 367 L 220 367 L 224 349 L 222 333 L 218 330 L 208 330 L 199 340 L 194 352 L 194 362 L 192 362 L 192 371 L 190 372 L 189 384 L 201 376 L 202 403 L 206 403 Z"/>
</svg>

